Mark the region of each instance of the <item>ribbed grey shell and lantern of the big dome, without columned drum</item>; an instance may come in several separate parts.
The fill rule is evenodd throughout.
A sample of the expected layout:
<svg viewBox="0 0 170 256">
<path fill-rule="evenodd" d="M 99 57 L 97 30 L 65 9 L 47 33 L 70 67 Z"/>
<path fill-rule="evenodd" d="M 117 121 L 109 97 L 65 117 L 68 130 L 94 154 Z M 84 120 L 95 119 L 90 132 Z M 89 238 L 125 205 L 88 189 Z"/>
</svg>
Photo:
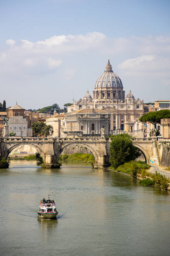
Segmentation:
<svg viewBox="0 0 170 256">
<path fill-rule="evenodd" d="M 108 59 L 105 72 L 98 77 L 95 88 L 116 87 L 123 88 L 121 79 L 112 71 L 112 66 Z"/>
</svg>

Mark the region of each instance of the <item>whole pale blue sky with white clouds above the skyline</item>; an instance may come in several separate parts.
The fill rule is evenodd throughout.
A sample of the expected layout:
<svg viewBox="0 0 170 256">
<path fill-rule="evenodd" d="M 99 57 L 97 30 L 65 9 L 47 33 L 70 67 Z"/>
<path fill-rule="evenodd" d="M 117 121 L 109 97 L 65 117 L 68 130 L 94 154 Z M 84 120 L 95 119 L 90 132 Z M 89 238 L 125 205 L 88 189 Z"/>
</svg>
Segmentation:
<svg viewBox="0 0 170 256">
<path fill-rule="evenodd" d="M 170 100 L 169 13 L 169 0 L 0 1 L 0 102 L 63 108 L 108 58 L 125 95 Z"/>
</svg>

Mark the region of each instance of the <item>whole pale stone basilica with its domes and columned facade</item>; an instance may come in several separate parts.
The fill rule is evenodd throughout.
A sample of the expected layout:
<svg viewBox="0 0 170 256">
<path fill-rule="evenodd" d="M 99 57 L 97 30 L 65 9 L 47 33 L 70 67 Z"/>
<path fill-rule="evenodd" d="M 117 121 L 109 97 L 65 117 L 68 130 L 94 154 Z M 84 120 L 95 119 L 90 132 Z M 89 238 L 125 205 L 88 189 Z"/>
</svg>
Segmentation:
<svg viewBox="0 0 170 256">
<path fill-rule="evenodd" d="M 108 133 L 115 134 L 133 131 L 135 122 L 144 114 L 144 103 L 139 98 L 135 99 L 131 91 L 125 96 L 122 81 L 113 72 L 108 59 L 105 72 L 97 78 L 92 96 L 87 91 L 83 99 L 74 101 L 67 108 L 67 115 L 87 109 L 105 111 L 110 118 Z"/>
</svg>

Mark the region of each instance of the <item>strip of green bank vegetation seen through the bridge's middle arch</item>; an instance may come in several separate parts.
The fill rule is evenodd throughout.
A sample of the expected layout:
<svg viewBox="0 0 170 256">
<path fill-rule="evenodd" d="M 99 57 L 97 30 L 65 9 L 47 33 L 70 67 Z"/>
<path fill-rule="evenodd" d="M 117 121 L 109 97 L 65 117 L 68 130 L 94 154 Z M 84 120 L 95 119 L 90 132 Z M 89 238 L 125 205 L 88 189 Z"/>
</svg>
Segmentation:
<svg viewBox="0 0 170 256">
<path fill-rule="evenodd" d="M 60 155 L 59 161 L 74 161 L 74 162 L 84 162 L 93 163 L 95 161 L 94 156 L 91 154 L 75 153 L 75 154 L 63 154 Z"/>
</svg>

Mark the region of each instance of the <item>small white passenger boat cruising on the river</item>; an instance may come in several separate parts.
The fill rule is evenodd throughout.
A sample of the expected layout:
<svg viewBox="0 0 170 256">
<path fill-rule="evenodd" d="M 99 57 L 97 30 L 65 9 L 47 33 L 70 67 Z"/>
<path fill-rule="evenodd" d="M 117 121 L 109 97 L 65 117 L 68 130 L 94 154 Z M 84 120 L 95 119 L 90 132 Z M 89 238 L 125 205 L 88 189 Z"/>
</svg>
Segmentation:
<svg viewBox="0 0 170 256">
<path fill-rule="evenodd" d="M 55 207 L 54 200 L 50 200 L 50 195 L 48 195 L 47 200 L 43 198 L 40 201 L 40 206 L 37 212 L 41 218 L 46 218 L 46 219 L 56 218 L 58 212 Z"/>
</svg>

